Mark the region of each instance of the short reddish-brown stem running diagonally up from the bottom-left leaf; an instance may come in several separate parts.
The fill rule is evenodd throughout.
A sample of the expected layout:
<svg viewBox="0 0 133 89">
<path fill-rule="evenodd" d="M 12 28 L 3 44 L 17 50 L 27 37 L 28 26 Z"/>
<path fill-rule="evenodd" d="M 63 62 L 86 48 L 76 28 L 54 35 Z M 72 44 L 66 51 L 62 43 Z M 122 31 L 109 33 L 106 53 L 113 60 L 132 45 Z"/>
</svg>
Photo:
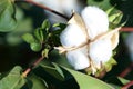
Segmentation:
<svg viewBox="0 0 133 89">
<path fill-rule="evenodd" d="M 27 68 L 27 69 L 24 70 L 24 72 L 22 73 L 22 77 L 27 77 L 28 73 L 29 73 L 35 66 L 38 66 L 43 59 L 44 59 L 44 57 L 40 57 L 39 59 L 37 59 L 29 68 Z"/>
</svg>

